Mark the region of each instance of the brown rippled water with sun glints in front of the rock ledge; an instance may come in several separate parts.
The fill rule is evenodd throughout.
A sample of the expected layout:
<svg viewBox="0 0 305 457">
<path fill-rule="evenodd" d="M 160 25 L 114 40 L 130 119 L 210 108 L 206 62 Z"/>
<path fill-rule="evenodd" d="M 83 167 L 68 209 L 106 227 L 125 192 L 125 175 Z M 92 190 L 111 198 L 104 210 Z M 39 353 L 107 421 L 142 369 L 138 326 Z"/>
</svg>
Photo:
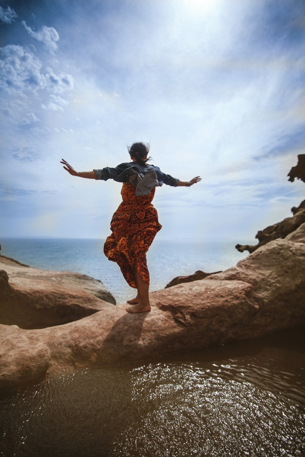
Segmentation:
<svg viewBox="0 0 305 457">
<path fill-rule="evenodd" d="M 2 456 L 301 456 L 302 331 L 134 367 L 58 370 L 1 400 Z"/>
</svg>

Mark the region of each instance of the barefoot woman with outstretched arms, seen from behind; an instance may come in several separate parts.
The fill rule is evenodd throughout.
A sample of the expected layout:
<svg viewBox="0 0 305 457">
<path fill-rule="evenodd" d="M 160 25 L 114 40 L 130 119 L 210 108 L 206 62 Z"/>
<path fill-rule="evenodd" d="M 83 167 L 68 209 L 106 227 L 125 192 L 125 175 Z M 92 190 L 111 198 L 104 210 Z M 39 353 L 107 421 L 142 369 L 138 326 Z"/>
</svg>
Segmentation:
<svg viewBox="0 0 305 457">
<path fill-rule="evenodd" d="M 151 204 L 155 195 L 155 187 L 193 186 L 201 180 L 196 176 L 191 181 L 180 181 L 163 173 L 159 167 L 147 164 L 149 145 L 134 143 L 128 147 L 131 162 L 123 163 L 115 168 L 106 167 L 101 170 L 75 171 L 64 159 L 64 169 L 70 175 L 81 178 L 100 179 L 123 182 L 123 202 L 112 216 L 111 231 L 104 245 L 104 253 L 109 260 L 117 262 L 129 286 L 137 289 L 135 298 L 127 303 L 133 305 L 126 309 L 128 313 L 144 313 L 150 311 L 149 283 L 150 276 L 146 264 L 146 252 L 156 233 L 161 229 L 158 213 Z"/>
</svg>

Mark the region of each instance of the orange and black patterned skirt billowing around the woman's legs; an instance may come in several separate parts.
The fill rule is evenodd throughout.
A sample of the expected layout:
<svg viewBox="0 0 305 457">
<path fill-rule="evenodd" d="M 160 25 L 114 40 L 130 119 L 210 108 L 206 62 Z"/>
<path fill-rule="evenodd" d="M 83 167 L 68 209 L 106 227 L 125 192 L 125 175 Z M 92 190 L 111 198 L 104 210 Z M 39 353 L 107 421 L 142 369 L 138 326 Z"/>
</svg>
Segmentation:
<svg viewBox="0 0 305 457">
<path fill-rule="evenodd" d="M 143 281 L 150 283 L 146 252 L 161 225 L 151 203 L 155 188 L 148 195 L 136 197 L 134 186 L 124 183 L 121 194 L 123 202 L 112 216 L 112 234 L 106 239 L 104 253 L 118 264 L 129 286 L 136 288 L 134 265 Z"/>
</svg>

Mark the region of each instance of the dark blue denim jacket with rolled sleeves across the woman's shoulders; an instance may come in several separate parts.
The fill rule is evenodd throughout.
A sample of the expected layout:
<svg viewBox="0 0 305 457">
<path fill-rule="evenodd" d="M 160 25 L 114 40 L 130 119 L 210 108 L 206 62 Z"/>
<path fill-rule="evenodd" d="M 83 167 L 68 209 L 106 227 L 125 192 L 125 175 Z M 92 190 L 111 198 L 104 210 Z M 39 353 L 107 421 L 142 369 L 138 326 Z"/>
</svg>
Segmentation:
<svg viewBox="0 0 305 457">
<path fill-rule="evenodd" d="M 128 169 L 134 167 L 139 170 L 143 175 L 149 173 L 150 171 L 155 171 L 157 175 L 157 180 L 161 183 L 167 184 L 168 186 L 177 187 L 179 180 L 173 178 L 171 175 L 166 175 L 159 167 L 155 165 L 140 165 L 137 162 L 126 162 L 116 166 L 115 168 L 105 167 L 100 170 L 93 170 L 96 174 L 96 179 L 101 179 L 107 181 L 107 179 L 113 179 L 118 182 L 128 182 Z"/>
</svg>

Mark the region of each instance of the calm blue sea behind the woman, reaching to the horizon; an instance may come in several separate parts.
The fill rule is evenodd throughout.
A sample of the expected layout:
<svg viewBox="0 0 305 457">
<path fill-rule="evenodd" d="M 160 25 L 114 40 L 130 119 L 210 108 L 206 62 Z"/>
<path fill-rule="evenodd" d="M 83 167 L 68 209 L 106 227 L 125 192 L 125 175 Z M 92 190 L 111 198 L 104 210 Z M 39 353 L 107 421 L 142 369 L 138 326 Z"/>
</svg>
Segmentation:
<svg viewBox="0 0 305 457">
<path fill-rule="evenodd" d="M 134 290 L 125 282 L 118 265 L 104 255 L 104 242 L 102 239 L 63 238 L 0 240 L 1 254 L 34 268 L 76 271 L 99 279 L 116 298 L 118 304 L 125 303 L 128 298 L 134 296 Z M 247 253 L 238 252 L 235 244 L 237 241 L 224 239 L 155 239 L 147 253 L 150 291 L 164 288 L 176 276 L 189 275 L 197 270 L 206 273 L 226 270 L 247 256 Z"/>
</svg>

